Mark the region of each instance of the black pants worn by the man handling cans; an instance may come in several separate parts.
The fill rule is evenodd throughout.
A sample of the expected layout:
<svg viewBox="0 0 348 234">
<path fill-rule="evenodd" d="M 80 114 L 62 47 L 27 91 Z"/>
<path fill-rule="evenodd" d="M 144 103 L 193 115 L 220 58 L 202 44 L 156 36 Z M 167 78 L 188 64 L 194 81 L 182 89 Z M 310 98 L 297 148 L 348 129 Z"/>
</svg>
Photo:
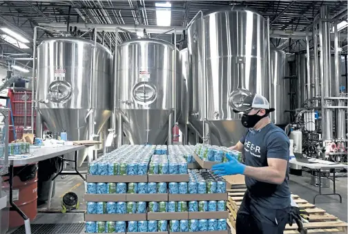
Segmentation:
<svg viewBox="0 0 348 234">
<path fill-rule="evenodd" d="M 289 222 L 289 208 L 273 209 L 259 206 L 245 193 L 237 213 L 237 234 L 283 234 Z"/>
</svg>

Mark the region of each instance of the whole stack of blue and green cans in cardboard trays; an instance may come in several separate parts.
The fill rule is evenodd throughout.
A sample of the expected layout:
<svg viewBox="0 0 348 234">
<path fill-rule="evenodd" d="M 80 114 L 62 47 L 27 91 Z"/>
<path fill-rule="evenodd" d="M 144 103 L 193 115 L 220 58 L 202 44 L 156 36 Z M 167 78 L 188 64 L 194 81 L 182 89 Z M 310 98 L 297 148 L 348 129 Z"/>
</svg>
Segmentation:
<svg viewBox="0 0 348 234">
<path fill-rule="evenodd" d="M 226 234 L 226 183 L 210 170 L 188 169 L 193 150 L 124 145 L 91 162 L 86 233 Z"/>
</svg>

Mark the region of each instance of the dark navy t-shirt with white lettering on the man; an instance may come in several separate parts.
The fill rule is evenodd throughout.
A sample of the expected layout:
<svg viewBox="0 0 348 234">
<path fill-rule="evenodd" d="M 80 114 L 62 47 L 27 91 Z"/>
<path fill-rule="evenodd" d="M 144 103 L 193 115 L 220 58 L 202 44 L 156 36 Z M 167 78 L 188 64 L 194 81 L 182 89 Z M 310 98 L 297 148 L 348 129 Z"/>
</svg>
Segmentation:
<svg viewBox="0 0 348 234">
<path fill-rule="evenodd" d="M 244 160 L 247 166 L 268 166 L 267 159 L 269 158 L 284 159 L 289 164 L 289 138 L 281 128 L 273 123 L 260 130 L 248 129 L 240 142 L 244 144 Z M 288 175 L 288 171 L 286 175 Z M 280 185 L 260 182 L 246 176 L 245 184 L 251 199 L 258 202 L 260 206 L 275 209 L 290 206 L 288 176 Z"/>
</svg>

